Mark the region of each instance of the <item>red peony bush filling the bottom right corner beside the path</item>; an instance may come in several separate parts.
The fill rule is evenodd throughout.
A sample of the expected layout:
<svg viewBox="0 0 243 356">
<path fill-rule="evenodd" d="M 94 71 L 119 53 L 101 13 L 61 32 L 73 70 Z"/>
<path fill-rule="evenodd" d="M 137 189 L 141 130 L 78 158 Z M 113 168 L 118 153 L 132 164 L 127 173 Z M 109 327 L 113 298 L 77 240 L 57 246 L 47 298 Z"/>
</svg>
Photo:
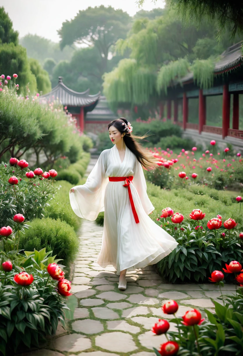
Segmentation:
<svg viewBox="0 0 243 356">
<path fill-rule="evenodd" d="M 233 269 L 241 268 L 237 261 L 232 261 Z M 216 273 L 215 273 L 216 272 Z M 228 273 L 228 272 L 227 272 Z M 243 273 L 241 273 L 243 276 Z M 236 278 L 241 283 L 241 274 Z M 223 287 L 223 273 L 214 271 L 211 274 L 211 282 L 216 282 L 217 285 Z M 216 280 L 215 280 L 216 279 Z M 243 279 L 243 278 L 242 278 Z M 151 330 L 157 335 L 165 334 L 167 342 L 160 346 L 160 349 L 155 348 L 157 356 L 167 355 L 201 355 L 201 356 L 234 356 L 242 355 L 243 347 L 243 288 L 236 290 L 236 294 L 222 294 L 218 297 L 223 301 L 223 305 L 212 300 L 215 305 L 215 313 L 204 309 L 205 318 L 201 318 L 201 313 L 197 309 L 188 310 L 182 319 L 175 316 L 170 321 L 176 323 L 177 331 L 169 331 L 169 323 L 167 320 L 158 320 Z M 171 303 L 176 303 L 171 300 Z M 166 302 L 167 303 L 167 302 Z M 166 303 L 162 305 L 164 314 L 167 312 Z M 175 310 L 175 312 L 177 309 Z M 167 334 L 171 340 L 168 339 Z"/>
</svg>

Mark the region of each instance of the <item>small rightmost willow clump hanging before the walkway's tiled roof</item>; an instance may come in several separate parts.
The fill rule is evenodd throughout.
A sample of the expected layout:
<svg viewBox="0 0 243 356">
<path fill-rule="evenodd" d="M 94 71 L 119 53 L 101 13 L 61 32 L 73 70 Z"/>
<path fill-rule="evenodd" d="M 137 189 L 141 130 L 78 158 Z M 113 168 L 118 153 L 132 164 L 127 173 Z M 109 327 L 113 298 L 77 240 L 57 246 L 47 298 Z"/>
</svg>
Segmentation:
<svg viewBox="0 0 243 356">
<path fill-rule="evenodd" d="M 194 82 L 200 88 L 210 88 L 214 84 L 214 67 L 213 58 L 195 59 L 191 67 L 193 71 Z"/>
</svg>

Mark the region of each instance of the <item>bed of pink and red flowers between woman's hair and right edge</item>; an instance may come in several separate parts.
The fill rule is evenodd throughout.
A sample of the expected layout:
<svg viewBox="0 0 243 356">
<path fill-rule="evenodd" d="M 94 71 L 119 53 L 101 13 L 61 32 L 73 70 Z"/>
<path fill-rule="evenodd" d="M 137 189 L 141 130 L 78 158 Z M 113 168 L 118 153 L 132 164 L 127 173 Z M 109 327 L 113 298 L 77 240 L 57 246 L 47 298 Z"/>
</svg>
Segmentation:
<svg viewBox="0 0 243 356">
<path fill-rule="evenodd" d="M 154 148 L 150 150 L 158 158 L 158 168 L 146 172 L 146 178 L 161 188 L 185 188 L 192 184 L 202 184 L 215 189 L 223 189 L 234 183 L 243 183 L 243 160 L 239 156 L 227 156 L 228 151 L 217 156 L 206 150 L 195 158 L 194 150 L 181 150 L 176 155 L 172 150 Z M 183 173 L 183 174 L 182 174 Z M 187 178 L 188 177 L 188 178 Z"/>
</svg>

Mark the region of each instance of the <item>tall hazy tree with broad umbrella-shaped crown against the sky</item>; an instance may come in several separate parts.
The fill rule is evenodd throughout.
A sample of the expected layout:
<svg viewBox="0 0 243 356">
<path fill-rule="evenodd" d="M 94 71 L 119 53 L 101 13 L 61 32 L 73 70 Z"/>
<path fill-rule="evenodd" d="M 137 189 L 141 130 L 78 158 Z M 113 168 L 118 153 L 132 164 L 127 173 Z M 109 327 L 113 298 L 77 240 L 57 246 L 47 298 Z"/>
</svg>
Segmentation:
<svg viewBox="0 0 243 356">
<path fill-rule="evenodd" d="M 58 31 L 61 42 L 60 47 L 72 43 L 82 43 L 89 47 L 95 46 L 102 62 L 102 73 L 107 70 L 107 60 L 110 47 L 119 38 L 125 38 L 131 22 L 130 16 L 113 7 L 88 7 L 71 21 L 63 22 Z"/>
</svg>

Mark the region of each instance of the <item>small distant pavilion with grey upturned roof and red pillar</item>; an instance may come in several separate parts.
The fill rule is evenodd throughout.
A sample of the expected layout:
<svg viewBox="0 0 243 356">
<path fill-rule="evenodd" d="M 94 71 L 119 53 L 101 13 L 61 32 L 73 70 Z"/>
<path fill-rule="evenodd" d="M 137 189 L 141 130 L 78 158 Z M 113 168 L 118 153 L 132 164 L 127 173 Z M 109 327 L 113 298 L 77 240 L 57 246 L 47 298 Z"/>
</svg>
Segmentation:
<svg viewBox="0 0 243 356">
<path fill-rule="evenodd" d="M 90 95 L 90 89 L 78 93 L 66 87 L 63 83 L 63 78 L 58 77 L 58 85 L 50 91 L 50 93 L 41 95 L 40 102 L 59 100 L 61 104 L 67 106 L 67 110 L 77 119 L 77 125 L 81 132 L 85 130 L 86 113 L 92 111 L 98 104 L 100 92 L 95 95 Z"/>
</svg>

